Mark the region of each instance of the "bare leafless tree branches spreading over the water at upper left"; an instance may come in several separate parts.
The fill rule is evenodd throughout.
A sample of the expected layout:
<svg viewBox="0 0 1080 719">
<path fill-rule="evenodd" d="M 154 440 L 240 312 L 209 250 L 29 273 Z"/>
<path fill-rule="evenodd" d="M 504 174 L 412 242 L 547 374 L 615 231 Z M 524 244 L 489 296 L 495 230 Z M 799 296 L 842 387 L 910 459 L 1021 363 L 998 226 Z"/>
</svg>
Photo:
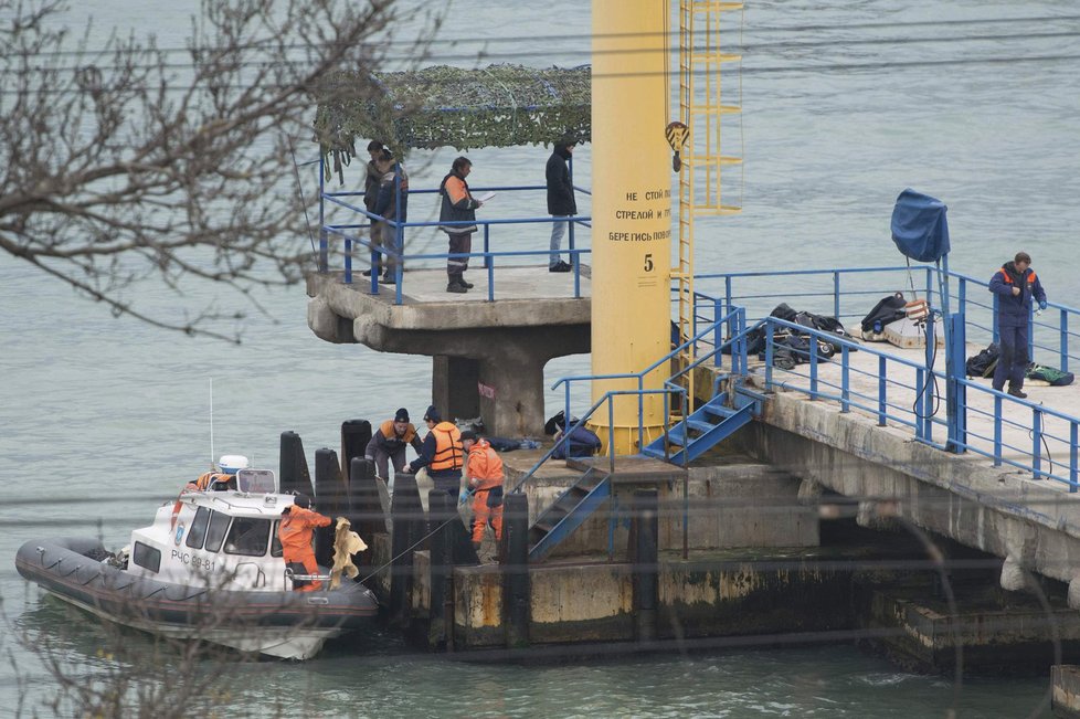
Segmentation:
<svg viewBox="0 0 1080 719">
<path fill-rule="evenodd" d="M 0 0 L 0 251 L 115 315 L 239 341 L 252 290 L 310 261 L 289 146 L 314 137 L 313 93 L 383 64 L 395 0 L 207 0 L 184 63 L 152 38 L 73 39 L 65 10 Z M 135 283 L 155 277 L 183 318 L 139 302 Z M 190 282 L 230 287 L 240 308 L 189 306 Z"/>
</svg>

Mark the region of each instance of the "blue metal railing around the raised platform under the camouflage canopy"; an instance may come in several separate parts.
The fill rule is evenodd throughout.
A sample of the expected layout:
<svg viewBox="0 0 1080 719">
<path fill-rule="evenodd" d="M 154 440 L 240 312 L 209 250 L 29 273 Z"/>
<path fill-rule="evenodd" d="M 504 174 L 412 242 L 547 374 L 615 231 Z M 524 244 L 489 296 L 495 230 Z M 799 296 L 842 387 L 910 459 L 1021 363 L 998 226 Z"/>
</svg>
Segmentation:
<svg viewBox="0 0 1080 719">
<path fill-rule="evenodd" d="M 574 188 L 585 194 L 591 194 L 589 190 Z M 537 192 L 546 191 L 547 187 L 539 184 L 529 186 L 499 186 L 499 187 L 488 187 L 488 188 L 474 188 L 472 191 L 474 193 L 483 193 L 487 191 L 498 191 L 498 192 Z M 398 201 L 395 207 L 399 208 L 399 213 L 394 218 L 382 218 L 381 215 L 374 214 L 368 211 L 366 208 L 357 205 L 354 201 L 350 201 L 352 198 L 362 197 L 362 192 L 327 192 L 326 191 L 326 178 L 324 165 L 319 163 L 319 258 L 318 266 L 320 273 L 329 272 L 329 255 L 330 255 L 330 237 L 336 236 L 341 239 L 342 245 L 342 275 L 345 284 L 352 284 L 352 261 L 353 253 L 360 251 L 361 247 L 366 247 L 368 254 L 370 255 L 371 266 L 374 267 L 380 262 L 380 255 L 385 256 L 383 263 L 388 266 L 393 266 L 394 269 L 394 304 L 402 304 L 403 294 L 403 268 L 406 261 L 430 261 L 430 260 L 451 260 L 451 258 L 477 258 L 483 261 L 483 266 L 487 271 L 487 299 L 495 299 L 495 265 L 497 258 L 506 257 L 542 257 L 544 264 L 547 264 L 548 255 L 550 254 L 550 247 L 544 246 L 538 250 L 525 250 L 525 251 L 493 251 L 491 250 L 491 229 L 498 228 L 499 225 L 528 225 L 528 224 L 551 224 L 553 222 L 570 222 L 570 232 L 568 233 L 568 246 L 562 249 L 562 253 L 570 255 L 572 272 L 573 272 L 573 297 L 581 297 L 581 263 L 582 255 L 590 254 L 587 247 L 575 246 L 576 237 L 574 233 L 574 228 L 578 225 L 591 228 L 592 219 L 586 215 L 573 215 L 571 218 L 553 218 L 553 216 L 539 216 L 539 218 L 515 218 L 515 219 L 497 219 L 497 220 L 476 220 L 475 222 L 464 221 L 464 222 L 403 222 L 401 221 L 400 208 L 401 208 L 401 191 L 400 188 L 395 189 L 399 192 Z M 409 190 L 407 194 L 419 195 L 419 194 L 437 194 L 438 189 L 419 189 Z M 352 221 L 345 223 L 327 223 L 327 205 L 333 205 L 347 210 L 352 215 L 356 215 Z M 393 229 L 393 243 L 392 246 L 377 245 L 366 236 L 363 236 L 362 231 L 372 226 L 375 222 L 383 222 L 389 228 Z M 405 249 L 405 236 L 407 229 L 420 229 L 420 228 L 442 228 L 442 226 L 469 226 L 476 225 L 483 230 L 484 237 L 484 250 L 481 252 L 469 252 L 469 253 L 417 253 L 417 254 L 406 254 Z M 379 273 L 372 272 L 370 277 L 370 293 L 378 294 L 380 285 Z M 384 284 L 384 283 L 383 283 Z"/>
</svg>

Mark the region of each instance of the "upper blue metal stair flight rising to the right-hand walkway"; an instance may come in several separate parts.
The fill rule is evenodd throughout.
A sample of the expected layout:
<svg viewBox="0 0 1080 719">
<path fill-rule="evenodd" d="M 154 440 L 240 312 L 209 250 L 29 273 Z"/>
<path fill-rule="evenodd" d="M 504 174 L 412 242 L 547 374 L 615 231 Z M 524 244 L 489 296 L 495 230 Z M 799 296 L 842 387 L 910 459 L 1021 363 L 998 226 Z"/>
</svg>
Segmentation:
<svg viewBox="0 0 1080 719">
<path fill-rule="evenodd" d="M 761 413 L 761 403 L 765 400 L 763 394 L 741 385 L 735 388 L 730 402 L 734 406 L 728 406 L 728 392 L 720 392 L 676 423 L 667 435 L 660 435 L 643 447 L 642 454 L 679 465 L 693 462 L 749 424 Z"/>
</svg>

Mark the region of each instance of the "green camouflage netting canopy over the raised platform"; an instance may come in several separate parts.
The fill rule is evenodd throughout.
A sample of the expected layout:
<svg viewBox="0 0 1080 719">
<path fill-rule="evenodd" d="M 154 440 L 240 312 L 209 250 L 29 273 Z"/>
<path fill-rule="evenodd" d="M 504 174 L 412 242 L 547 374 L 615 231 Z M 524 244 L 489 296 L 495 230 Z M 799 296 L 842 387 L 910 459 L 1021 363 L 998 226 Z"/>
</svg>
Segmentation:
<svg viewBox="0 0 1080 719">
<path fill-rule="evenodd" d="M 590 67 L 436 65 L 395 73 L 337 73 L 318 89 L 316 137 L 324 155 L 357 155 L 379 139 L 411 148 L 542 145 L 591 137 Z M 360 147 L 364 151 L 367 142 Z"/>
</svg>

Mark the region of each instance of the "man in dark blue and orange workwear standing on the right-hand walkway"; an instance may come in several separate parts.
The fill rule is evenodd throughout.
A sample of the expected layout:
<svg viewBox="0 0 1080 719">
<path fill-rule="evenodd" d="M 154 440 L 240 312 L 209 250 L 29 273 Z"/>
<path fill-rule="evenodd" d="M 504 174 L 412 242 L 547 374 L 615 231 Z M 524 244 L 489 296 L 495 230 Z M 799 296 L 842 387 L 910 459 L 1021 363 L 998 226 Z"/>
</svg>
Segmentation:
<svg viewBox="0 0 1080 719">
<path fill-rule="evenodd" d="M 1027 398 L 1024 374 L 1030 362 L 1027 346 L 1033 299 L 1039 303 L 1039 309 L 1046 309 L 1046 292 L 1031 269 L 1031 256 L 1017 252 L 1013 262 L 1006 262 L 991 277 L 989 290 L 997 295 L 996 321 L 1002 348 L 994 369 L 994 389 L 1003 391 L 1008 380 L 1008 393 L 1023 400 Z"/>
</svg>

